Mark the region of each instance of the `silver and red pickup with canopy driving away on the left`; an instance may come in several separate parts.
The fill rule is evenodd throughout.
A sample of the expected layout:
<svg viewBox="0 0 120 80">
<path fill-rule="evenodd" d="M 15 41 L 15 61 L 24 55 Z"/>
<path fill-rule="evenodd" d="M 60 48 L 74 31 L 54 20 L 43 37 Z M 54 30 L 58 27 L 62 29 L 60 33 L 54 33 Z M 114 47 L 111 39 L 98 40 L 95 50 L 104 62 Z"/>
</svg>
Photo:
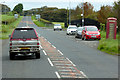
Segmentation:
<svg viewBox="0 0 120 80">
<path fill-rule="evenodd" d="M 39 36 L 34 28 L 16 28 L 10 35 L 9 57 L 32 56 L 40 58 Z"/>
</svg>

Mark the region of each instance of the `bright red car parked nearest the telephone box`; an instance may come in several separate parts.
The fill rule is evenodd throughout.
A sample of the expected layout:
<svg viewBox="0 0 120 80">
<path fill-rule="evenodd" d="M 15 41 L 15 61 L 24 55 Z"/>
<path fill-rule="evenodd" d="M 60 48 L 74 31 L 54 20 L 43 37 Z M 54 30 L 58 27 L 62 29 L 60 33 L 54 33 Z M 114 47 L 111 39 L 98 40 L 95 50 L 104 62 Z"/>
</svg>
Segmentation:
<svg viewBox="0 0 120 80">
<path fill-rule="evenodd" d="M 101 39 L 100 30 L 96 26 L 84 26 L 82 30 L 82 40 Z"/>
</svg>

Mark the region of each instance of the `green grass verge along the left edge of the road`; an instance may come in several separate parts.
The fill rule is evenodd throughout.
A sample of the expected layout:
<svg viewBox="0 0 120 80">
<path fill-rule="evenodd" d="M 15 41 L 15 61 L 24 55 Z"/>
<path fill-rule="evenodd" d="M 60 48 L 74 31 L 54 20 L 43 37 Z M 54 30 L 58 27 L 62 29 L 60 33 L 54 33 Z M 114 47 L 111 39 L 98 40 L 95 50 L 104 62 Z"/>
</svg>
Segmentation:
<svg viewBox="0 0 120 80">
<path fill-rule="evenodd" d="M 7 25 L 2 24 L 0 29 L 0 39 L 8 39 L 9 35 L 12 33 L 13 29 L 16 28 L 19 22 L 22 20 L 22 16 L 20 16 L 17 20 Z M 3 19 L 3 18 L 2 18 Z"/>
</svg>

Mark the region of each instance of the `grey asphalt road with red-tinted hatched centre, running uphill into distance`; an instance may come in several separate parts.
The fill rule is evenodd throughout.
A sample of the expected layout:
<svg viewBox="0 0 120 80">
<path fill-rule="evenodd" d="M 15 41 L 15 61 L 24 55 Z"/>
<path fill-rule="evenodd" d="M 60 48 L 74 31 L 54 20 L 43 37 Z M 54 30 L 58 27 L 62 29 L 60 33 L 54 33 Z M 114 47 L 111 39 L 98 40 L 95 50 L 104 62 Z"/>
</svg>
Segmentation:
<svg viewBox="0 0 120 80">
<path fill-rule="evenodd" d="M 67 36 L 65 31 L 53 31 L 52 29 L 37 27 L 32 22 L 31 17 L 28 16 L 24 17 L 18 25 L 18 27 L 24 26 L 34 27 L 41 35 L 40 41 L 43 47 L 41 58 L 11 61 L 8 56 L 9 40 L 3 40 L 3 78 L 66 78 L 65 73 L 60 72 L 60 68 L 62 68 L 60 65 L 63 65 L 64 61 L 66 61 L 64 65 L 71 65 L 70 68 L 76 70 L 77 77 L 118 77 L 118 57 L 97 50 L 98 41 L 82 41 L 81 39 L 75 39 L 74 36 Z M 92 46 L 93 43 L 95 43 L 94 46 Z M 64 61 L 61 61 L 61 64 L 60 61 L 55 63 L 57 62 L 57 59 L 53 60 L 55 57 L 64 59 Z M 65 71 L 65 69 L 62 70 Z M 70 74 L 74 73 L 67 75 Z"/>
</svg>

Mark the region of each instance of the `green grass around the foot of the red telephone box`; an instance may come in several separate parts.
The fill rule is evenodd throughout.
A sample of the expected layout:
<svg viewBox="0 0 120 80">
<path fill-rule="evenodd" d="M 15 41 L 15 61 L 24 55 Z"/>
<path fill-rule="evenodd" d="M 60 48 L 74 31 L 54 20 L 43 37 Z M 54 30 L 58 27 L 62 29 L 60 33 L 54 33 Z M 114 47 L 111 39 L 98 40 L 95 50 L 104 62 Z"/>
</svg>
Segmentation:
<svg viewBox="0 0 120 80">
<path fill-rule="evenodd" d="M 106 39 L 106 32 L 101 31 L 101 40 L 99 41 L 98 49 L 111 55 L 119 55 L 118 34 L 116 35 L 116 40 Z"/>
</svg>

